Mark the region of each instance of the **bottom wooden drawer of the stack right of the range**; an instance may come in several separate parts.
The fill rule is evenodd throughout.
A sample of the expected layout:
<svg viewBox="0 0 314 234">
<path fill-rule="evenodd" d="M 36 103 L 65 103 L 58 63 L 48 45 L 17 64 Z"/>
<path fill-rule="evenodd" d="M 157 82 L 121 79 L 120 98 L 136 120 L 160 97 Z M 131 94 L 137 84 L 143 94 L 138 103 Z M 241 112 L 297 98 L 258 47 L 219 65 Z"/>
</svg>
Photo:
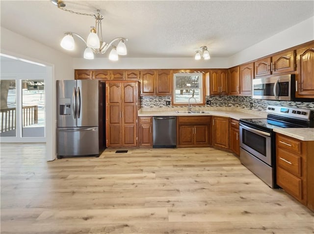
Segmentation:
<svg viewBox="0 0 314 234">
<path fill-rule="evenodd" d="M 277 184 L 298 200 L 302 200 L 302 180 L 277 167 Z"/>
</svg>

